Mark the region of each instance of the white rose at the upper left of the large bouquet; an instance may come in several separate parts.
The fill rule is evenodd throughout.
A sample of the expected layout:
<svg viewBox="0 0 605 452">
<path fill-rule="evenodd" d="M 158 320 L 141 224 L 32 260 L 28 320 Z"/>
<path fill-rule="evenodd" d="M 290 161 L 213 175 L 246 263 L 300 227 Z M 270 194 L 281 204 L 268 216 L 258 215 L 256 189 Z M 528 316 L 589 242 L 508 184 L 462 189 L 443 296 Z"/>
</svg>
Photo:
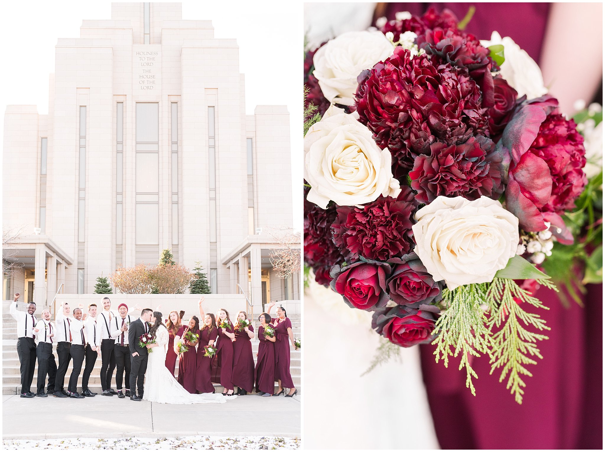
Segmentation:
<svg viewBox="0 0 605 452">
<path fill-rule="evenodd" d="M 327 100 L 353 105 L 357 76 L 390 57 L 393 50 L 393 44 L 380 31 L 348 31 L 315 53 L 313 75 Z"/>
</svg>

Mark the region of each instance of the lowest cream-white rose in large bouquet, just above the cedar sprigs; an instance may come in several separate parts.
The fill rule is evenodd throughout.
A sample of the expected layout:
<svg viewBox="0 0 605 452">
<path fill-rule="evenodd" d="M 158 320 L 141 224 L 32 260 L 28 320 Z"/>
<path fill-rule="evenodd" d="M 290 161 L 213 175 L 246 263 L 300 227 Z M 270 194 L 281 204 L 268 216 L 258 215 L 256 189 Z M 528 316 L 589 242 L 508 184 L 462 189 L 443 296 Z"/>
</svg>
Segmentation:
<svg viewBox="0 0 605 452">
<path fill-rule="evenodd" d="M 474 201 L 439 196 L 414 218 L 414 253 L 450 290 L 491 282 L 517 252 L 518 219 L 486 196 Z"/>
</svg>

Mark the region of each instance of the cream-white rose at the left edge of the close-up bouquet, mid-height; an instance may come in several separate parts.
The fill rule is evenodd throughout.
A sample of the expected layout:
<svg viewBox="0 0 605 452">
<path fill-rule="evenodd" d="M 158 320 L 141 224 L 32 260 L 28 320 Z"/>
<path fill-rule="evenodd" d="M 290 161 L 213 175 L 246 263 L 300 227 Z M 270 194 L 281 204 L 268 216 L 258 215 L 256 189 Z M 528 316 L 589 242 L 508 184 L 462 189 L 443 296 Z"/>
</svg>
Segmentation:
<svg viewBox="0 0 605 452">
<path fill-rule="evenodd" d="M 307 199 L 321 208 L 330 200 L 359 205 L 401 192 L 391 172 L 391 153 L 378 147 L 356 114 L 330 106 L 304 137 L 304 153 L 304 178 L 311 186 Z"/>
</svg>

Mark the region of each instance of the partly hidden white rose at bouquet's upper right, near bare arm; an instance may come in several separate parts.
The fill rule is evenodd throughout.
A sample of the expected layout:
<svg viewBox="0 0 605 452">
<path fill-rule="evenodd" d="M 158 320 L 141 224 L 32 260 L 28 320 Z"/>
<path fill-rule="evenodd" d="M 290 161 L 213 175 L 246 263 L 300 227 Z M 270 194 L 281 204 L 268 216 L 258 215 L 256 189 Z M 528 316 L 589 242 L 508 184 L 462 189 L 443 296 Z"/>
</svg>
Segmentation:
<svg viewBox="0 0 605 452">
<path fill-rule="evenodd" d="M 500 75 L 517 90 L 518 97 L 527 94 L 528 99 L 533 99 L 548 92 L 540 66 L 525 50 L 515 44 L 514 40 L 508 36 L 500 37 L 500 34 L 494 31 L 491 40 L 481 41 L 483 47 L 495 44 L 504 46 L 504 63 L 500 66 Z"/>
</svg>

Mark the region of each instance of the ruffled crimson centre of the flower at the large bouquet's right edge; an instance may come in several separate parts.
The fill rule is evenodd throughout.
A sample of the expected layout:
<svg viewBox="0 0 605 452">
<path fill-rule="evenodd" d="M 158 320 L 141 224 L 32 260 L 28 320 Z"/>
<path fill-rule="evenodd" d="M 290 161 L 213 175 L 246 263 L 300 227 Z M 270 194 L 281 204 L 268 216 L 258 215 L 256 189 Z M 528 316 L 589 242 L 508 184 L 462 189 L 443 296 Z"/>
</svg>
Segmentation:
<svg viewBox="0 0 605 452">
<path fill-rule="evenodd" d="M 551 170 L 551 196 L 541 211 L 561 214 L 572 210 L 575 199 L 587 184 L 582 170 L 586 165 L 584 138 L 578 133 L 574 120 L 549 114 L 540 125 L 529 152 L 544 160 Z"/>
</svg>

